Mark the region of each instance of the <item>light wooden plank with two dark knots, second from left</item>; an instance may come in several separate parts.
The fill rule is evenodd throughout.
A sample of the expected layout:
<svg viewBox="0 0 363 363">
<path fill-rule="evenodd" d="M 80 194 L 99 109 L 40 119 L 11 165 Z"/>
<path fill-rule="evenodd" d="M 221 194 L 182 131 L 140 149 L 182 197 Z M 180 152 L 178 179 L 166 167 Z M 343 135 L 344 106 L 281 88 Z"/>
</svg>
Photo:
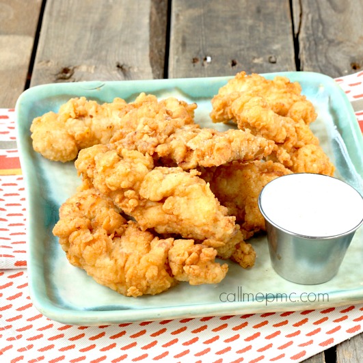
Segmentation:
<svg viewBox="0 0 363 363">
<path fill-rule="evenodd" d="M 166 16 L 165 0 L 48 0 L 31 86 L 162 77 Z"/>
</svg>

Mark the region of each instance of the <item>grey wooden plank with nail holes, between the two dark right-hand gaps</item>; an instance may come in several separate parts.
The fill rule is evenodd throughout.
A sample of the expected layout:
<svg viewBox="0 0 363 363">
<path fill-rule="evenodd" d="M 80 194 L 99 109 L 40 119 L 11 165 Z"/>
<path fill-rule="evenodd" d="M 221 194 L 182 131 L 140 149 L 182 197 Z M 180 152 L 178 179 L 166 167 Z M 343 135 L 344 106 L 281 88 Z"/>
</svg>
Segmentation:
<svg viewBox="0 0 363 363">
<path fill-rule="evenodd" d="M 169 77 L 295 70 L 288 0 L 174 0 Z"/>
</svg>

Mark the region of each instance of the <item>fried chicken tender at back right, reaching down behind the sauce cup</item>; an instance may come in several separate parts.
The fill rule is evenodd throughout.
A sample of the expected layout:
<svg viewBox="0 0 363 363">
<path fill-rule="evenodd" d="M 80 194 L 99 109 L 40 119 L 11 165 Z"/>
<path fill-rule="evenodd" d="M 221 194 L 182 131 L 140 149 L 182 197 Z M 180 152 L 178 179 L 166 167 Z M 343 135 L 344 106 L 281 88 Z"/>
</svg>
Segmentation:
<svg viewBox="0 0 363 363">
<path fill-rule="evenodd" d="M 281 163 L 293 172 L 334 175 L 334 165 L 310 130 L 317 113 L 301 95 L 299 83 L 291 83 L 286 77 L 268 80 L 240 72 L 219 89 L 212 105 L 214 122 L 232 120 L 239 129 L 275 143 L 265 160 Z"/>
</svg>

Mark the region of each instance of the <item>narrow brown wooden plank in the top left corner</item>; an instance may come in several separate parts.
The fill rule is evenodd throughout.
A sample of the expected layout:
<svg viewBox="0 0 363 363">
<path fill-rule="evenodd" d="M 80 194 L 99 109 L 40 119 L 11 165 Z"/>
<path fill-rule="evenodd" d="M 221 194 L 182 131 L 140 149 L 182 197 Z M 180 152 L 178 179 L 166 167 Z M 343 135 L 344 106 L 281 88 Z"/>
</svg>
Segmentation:
<svg viewBox="0 0 363 363">
<path fill-rule="evenodd" d="M 42 0 L 0 0 L 0 107 L 25 89 Z"/>
</svg>

